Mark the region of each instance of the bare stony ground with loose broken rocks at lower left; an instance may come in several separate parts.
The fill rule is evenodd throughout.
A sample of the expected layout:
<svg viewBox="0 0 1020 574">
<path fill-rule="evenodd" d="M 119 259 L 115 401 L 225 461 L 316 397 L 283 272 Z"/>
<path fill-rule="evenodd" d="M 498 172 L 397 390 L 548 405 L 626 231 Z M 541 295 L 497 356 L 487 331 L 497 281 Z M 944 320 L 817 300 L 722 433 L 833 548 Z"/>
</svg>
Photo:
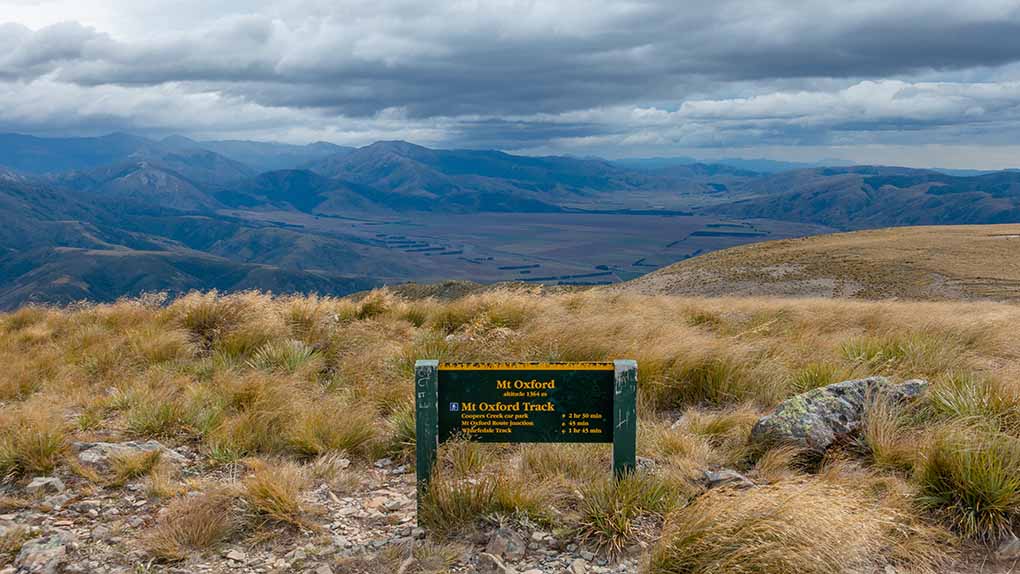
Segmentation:
<svg viewBox="0 0 1020 574">
<path fill-rule="evenodd" d="M 83 467 L 97 471 L 105 470 L 111 456 L 160 450 L 184 477 L 213 478 L 195 453 L 154 440 L 75 443 L 74 450 Z M 214 478 L 228 483 L 240 472 L 221 468 Z M 415 523 L 414 469 L 389 459 L 359 470 L 351 491 L 338 493 L 326 482 L 307 491 L 304 502 L 314 517 L 308 528 L 284 528 L 169 565 L 155 563 L 139 544 L 165 512 L 162 501 L 147 492 L 147 480 L 107 487 L 66 472 L 7 486 L 0 500 L 0 534 L 13 538 L 20 532 L 24 542 L 0 574 L 393 571 L 388 564 L 399 572 L 418 572 L 417 563 L 429 560 L 414 552 L 431 545 Z M 431 562 L 445 563 L 449 572 L 626 573 L 638 571 L 639 556 L 648 547 L 635 544 L 610 562 L 568 536 L 515 526 L 482 528 L 471 539 L 435 550 Z"/>
</svg>

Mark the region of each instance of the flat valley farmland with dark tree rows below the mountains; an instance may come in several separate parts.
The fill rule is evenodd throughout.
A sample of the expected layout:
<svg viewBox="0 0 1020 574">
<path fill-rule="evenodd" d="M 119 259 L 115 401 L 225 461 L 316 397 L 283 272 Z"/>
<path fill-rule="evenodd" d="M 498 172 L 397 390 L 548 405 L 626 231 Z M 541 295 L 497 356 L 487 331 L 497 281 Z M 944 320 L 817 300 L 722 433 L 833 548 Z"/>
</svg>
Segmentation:
<svg viewBox="0 0 1020 574">
<path fill-rule="evenodd" d="M 618 213 L 415 214 L 328 217 L 296 212 L 228 215 L 347 240 L 384 280 L 609 283 L 711 251 L 829 232 L 820 225 Z M 393 271 L 391 271 L 393 269 Z M 400 269 L 398 276 L 396 269 Z"/>
</svg>

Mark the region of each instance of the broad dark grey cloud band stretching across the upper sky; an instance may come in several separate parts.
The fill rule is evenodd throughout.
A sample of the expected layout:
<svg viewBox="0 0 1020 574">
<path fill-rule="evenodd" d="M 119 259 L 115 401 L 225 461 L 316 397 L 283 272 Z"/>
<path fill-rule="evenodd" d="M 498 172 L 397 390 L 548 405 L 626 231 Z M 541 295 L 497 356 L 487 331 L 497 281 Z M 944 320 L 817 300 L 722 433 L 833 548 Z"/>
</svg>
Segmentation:
<svg viewBox="0 0 1020 574">
<path fill-rule="evenodd" d="M 0 61 L 7 77 L 22 80 L 203 83 L 269 106 L 346 115 L 403 107 L 432 116 L 560 112 L 671 100 L 712 83 L 882 77 L 1020 60 L 1017 9 L 965 20 L 949 9 L 905 18 L 907 6 L 895 3 L 849 16 L 842 4 L 818 6 L 641 3 L 579 30 L 509 23 L 509 34 L 469 16 L 437 29 L 420 12 L 364 24 L 341 13 L 312 23 L 231 16 L 148 42 L 74 23 L 8 25 Z"/>
</svg>

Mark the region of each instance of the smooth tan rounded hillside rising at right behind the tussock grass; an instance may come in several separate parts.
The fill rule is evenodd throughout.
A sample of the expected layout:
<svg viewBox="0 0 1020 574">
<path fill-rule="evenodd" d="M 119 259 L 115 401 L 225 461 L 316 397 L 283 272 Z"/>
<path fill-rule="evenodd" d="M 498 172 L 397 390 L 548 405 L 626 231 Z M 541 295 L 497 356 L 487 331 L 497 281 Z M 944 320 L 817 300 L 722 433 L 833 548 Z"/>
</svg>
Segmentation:
<svg viewBox="0 0 1020 574">
<path fill-rule="evenodd" d="M 1020 300 L 1020 224 L 894 227 L 735 247 L 665 267 L 644 294 Z"/>
</svg>

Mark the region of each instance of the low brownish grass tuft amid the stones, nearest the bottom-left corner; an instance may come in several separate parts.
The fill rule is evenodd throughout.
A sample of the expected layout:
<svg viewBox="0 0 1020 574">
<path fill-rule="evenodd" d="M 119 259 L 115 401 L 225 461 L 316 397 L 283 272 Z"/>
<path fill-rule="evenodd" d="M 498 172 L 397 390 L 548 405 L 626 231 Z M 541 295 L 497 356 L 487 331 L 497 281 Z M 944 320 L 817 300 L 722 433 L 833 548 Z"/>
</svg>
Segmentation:
<svg viewBox="0 0 1020 574">
<path fill-rule="evenodd" d="M 238 527 L 232 512 L 234 500 L 228 490 L 214 489 L 171 502 L 143 535 L 144 547 L 158 560 L 178 562 L 214 546 Z"/>
</svg>

